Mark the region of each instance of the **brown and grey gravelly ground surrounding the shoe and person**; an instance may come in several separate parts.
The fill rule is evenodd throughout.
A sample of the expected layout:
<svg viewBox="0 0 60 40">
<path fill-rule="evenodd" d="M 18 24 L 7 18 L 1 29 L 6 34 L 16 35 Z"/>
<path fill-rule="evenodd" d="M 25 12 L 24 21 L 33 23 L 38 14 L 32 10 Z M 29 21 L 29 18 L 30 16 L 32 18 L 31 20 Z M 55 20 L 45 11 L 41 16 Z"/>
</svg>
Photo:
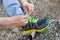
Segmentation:
<svg viewBox="0 0 60 40">
<path fill-rule="evenodd" d="M 33 17 L 48 17 L 54 20 L 60 19 L 60 0 L 29 0 L 29 2 L 33 3 L 35 6 L 35 10 L 32 13 Z M 3 9 L 0 9 L 0 16 L 5 16 Z M 18 28 L 0 28 L 0 40 L 18 40 L 18 38 L 21 38 L 21 31 L 16 33 L 13 29 L 17 30 Z M 47 30 L 40 33 L 37 40 L 60 40 L 60 27 L 56 27 L 54 24 L 52 24 Z"/>
</svg>

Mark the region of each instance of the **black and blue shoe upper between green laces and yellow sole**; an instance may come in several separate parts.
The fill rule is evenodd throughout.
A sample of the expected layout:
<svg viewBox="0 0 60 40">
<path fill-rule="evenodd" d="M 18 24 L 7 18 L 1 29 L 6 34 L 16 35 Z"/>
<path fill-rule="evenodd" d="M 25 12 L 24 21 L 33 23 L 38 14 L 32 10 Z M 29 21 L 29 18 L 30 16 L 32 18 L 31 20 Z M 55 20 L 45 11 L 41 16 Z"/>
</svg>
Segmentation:
<svg viewBox="0 0 60 40">
<path fill-rule="evenodd" d="M 36 23 L 28 23 L 25 26 L 25 30 L 29 30 L 29 29 L 42 29 L 46 26 L 48 26 L 50 19 L 42 19 L 42 20 L 38 20 Z"/>
</svg>

